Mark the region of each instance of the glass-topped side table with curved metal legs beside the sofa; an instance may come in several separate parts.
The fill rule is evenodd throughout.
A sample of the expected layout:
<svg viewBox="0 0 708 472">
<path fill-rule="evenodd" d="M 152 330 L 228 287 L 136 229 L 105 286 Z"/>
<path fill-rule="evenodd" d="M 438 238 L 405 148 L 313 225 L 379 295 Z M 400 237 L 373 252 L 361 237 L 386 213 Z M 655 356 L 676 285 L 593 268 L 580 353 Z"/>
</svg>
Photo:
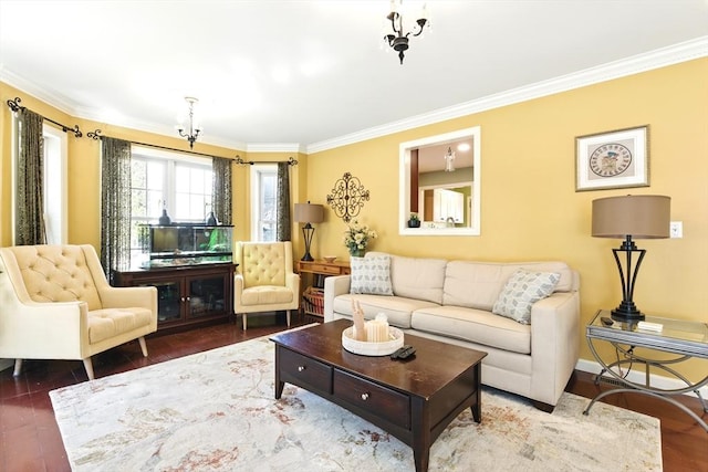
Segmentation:
<svg viewBox="0 0 708 472">
<path fill-rule="evenodd" d="M 698 396 L 704 412 L 708 412 L 708 403 L 706 403 L 706 400 L 702 398 L 699 390 L 701 387 L 708 385 L 708 376 L 698 381 L 691 381 L 686 376 L 670 367 L 671 365 L 691 358 L 708 359 L 708 324 L 646 316 L 646 322 L 663 326 L 660 332 L 652 332 L 648 329 L 641 329 L 637 322 L 625 323 L 613 321 L 612 324 L 605 324 L 603 323 L 603 318 L 612 319 L 610 311 L 598 311 L 585 329 L 590 350 L 602 366 L 602 371 L 595 377 L 595 384 L 601 381 L 602 376 L 610 375 L 618 380 L 617 384 L 620 387 L 597 395 L 583 411 L 583 415 L 587 415 L 590 412 L 590 409 L 595 401 L 608 395 L 637 392 L 659 398 L 674 405 L 689 415 L 706 430 L 706 432 L 708 432 L 708 424 L 702 418 L 685 405 L 671 398 L 674 395 L 683 395 L 693 391 Z M 611 363 L 605 361 L 597 353 L 594 344 L 596 342 L 610 343 L 615 347 L 617 357 Z M 648 354 L 639 354 L 636 350 L 637 348 L 644 348 Z M 654 357 L 653 352 L 654 354 L 659 355 Z M 629 366 L 629 368 L 632 368 L 634 365 L 644 366 L 645 381 L 643 384 L 631 381 L 625 375 L 616 371 L 616 369 L 622 368 L 623 366 Z M 650 369 L 663 370 L 686 384 L 686 387 L 666 389 L 653 386 L 650 385 Z"/>
</svg>

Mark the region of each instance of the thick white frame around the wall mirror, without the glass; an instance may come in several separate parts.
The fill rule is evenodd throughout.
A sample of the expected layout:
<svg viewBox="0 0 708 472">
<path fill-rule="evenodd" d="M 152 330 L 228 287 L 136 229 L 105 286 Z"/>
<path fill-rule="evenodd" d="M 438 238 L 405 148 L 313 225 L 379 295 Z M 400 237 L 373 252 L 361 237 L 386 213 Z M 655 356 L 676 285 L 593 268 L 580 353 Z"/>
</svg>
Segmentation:
<svg viewBox="0 0 708 472">
<path fill-rule="evenodd" d="M 410 216 L 410 150 L 451 140 L 472 138 L 472 211 L 471 224 L 466 228 L 408 228 Z M 398 161 L 398 234 L 400 235 L 480 235 L 481 234 L 481 128 L 459 129 L 436 136 L 400 143 Z"/>
</svg>

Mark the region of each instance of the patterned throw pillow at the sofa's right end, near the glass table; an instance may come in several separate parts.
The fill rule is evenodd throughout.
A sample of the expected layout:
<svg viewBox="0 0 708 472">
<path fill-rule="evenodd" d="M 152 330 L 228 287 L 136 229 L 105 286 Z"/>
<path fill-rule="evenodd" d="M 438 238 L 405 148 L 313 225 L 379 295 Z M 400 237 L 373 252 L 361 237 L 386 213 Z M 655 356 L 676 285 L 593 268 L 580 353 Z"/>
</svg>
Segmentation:
<svg viewBox="0 0 708 472">
<path fill-rule="evenodd" d="M 519 269 L 504 284 L 491 312 L 531 324 L 531 305 L 553 293 L 561 274 L 556 272 L 531 272 Z"/>
</svg>

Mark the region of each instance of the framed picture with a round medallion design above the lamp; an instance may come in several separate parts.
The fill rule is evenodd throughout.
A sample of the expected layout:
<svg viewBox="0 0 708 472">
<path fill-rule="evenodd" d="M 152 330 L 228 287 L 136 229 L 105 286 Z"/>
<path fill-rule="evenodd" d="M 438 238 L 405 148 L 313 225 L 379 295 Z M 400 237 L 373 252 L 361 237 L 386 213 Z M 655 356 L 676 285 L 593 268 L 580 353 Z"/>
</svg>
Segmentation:
<svg viewBox="0 0 708 472">
<path fill-rule="evenodd" d="M 575 138 L 575 191 L 648 186 L 648 125 Z"/>
</svg>

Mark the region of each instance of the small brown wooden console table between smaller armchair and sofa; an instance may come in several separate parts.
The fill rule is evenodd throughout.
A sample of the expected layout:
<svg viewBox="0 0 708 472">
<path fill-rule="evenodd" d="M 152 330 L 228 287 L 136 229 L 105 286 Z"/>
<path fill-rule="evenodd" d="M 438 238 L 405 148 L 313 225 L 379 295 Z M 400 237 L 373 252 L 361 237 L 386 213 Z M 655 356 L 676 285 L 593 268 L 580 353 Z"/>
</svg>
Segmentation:
<svg viewBox="0 0 708 472">
<path fill-rule="evenodd" d="M 313 317 L 313 321 L 322 322 L 324 316 L 324 279 L 331 275 L 350 274 L 350 261 L 298 261 L 298 273 L 303 277 L 301 311 L 305 316 Z M 310 275 L 308 276 L 308 274 Z M 309 280 L 305 281 L 304 276 L 308 276 Z"/>
</svg>

